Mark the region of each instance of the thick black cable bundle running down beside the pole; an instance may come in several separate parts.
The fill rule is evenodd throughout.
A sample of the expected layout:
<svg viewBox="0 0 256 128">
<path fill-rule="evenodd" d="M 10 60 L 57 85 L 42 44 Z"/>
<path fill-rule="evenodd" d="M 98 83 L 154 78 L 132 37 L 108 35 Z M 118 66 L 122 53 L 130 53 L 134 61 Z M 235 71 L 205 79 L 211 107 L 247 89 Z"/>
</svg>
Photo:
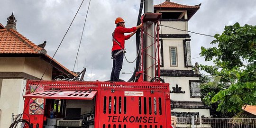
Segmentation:
<svg viewBox="0 0 256 128">
<path fill-rule="evenodd" d="M 140 25 L 140 18 L 141 18 L 141 13 L 144 5 L 144 0 L 140 0 L 140 7 L 139 7 L 139 13 L 138 13 L 138 18 L 137 18 L 137 26 Z M 136 66 L 134 69 L 134 72 L 131 76 L 131 78 L 128 80 L 128 82 L 135 82 L 136 81 L 136 72 L 139 71 L 139 64 L 140 64 L 140 29 L 137 30 L 136 32 L 136 50 L 137 50 L 137 59 L 136 59 Z M 138 53 L 139 52 L 139 53 Z"/>
</svg>

